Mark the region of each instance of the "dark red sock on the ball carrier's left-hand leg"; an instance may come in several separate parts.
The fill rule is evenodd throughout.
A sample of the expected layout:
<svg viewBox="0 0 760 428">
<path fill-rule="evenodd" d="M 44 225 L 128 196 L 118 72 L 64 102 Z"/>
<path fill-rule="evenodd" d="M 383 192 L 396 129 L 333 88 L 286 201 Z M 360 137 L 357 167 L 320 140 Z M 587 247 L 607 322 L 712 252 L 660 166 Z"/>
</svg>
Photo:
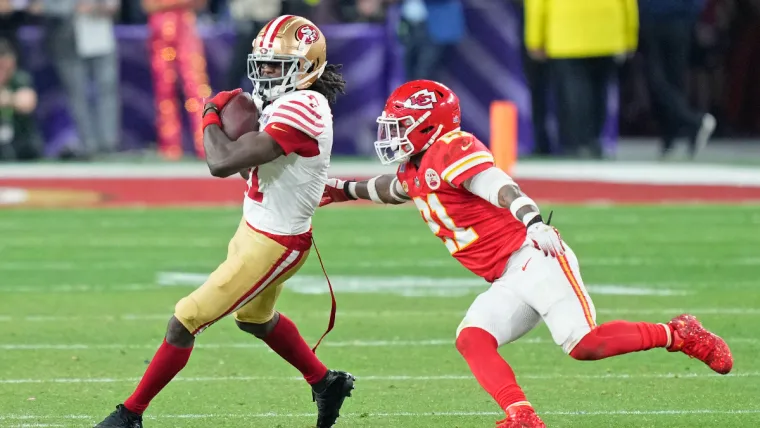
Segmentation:
<svg viewBox="0 0 760 428">
<path fill-rule="evenodd" d="M 132 412 L 142 414 L 150 401 L 174 379 L 190 359 L 193 348 L 178 348 L 164 339 L 145 371 L 137 389 L 124 402 L 124 407 Z"/>
</svg>

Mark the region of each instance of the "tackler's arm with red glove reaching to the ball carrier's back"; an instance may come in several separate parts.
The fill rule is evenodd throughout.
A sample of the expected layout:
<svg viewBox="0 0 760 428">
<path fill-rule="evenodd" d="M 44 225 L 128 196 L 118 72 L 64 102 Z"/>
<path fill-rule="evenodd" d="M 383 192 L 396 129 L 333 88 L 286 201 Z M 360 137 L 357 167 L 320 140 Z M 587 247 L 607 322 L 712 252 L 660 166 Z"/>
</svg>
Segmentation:
<svg viewBox="0 0 760 428">
<path fill-rule="evenodd" d="M 378 175 L 365 181 L 331 178 L 325 185 L 320 206 L 333 202 L 365 199 L 378 204 L 403 204 L 410 200 L 394 174 Z"/>
</svg>

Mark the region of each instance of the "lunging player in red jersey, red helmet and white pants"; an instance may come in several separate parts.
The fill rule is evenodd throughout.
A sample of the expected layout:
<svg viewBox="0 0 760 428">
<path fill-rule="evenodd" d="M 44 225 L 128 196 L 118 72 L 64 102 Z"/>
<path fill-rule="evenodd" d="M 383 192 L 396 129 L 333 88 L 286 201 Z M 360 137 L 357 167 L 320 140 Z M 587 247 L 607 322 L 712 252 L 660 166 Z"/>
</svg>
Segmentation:
<svg viewBox="0 0 760 428">
<path fill-rule="evenodd" d="M 366 181 L 330 179 L 320 205 L 366 199 L 413 201 L 422 219 L 462 265 L 491 283 L 470 306 L 456 347 L 480 385 L 506 413 L 500 428 L 544 427 L 497 352 L 543 320 L 557 345 L 577 360 L 599 360 L 653 348 L 680 351 L 714 371 L 733 366 L 726 342 L 692 315 L 668 323 L 596 324 L 578 259 L 538 205 L 488 148 L 460 130 L 457 96 L 428 80 L 406 83 L 385 104 L 375 148 L 396 174 Z"/>
</svg>

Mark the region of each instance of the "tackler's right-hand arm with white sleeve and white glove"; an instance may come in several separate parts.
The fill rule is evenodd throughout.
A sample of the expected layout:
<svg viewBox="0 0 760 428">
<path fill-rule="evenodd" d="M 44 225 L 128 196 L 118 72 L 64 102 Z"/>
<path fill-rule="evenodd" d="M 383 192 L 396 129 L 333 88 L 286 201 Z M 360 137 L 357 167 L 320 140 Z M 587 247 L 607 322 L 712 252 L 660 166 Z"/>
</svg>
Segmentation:
<svg viewBox="0 0 760 428">
<path fill-rule="evenodd" d="M 538 204 L 501 169 L 492 166 L 481 171 L 465 180 L 464 187 L 497 207 L 509 209 L 525 225 L 528 237 L 544 254 L 555 257 L 565 253 L 562 238 L 557 229 L 544 223 Z"/>
</svg>

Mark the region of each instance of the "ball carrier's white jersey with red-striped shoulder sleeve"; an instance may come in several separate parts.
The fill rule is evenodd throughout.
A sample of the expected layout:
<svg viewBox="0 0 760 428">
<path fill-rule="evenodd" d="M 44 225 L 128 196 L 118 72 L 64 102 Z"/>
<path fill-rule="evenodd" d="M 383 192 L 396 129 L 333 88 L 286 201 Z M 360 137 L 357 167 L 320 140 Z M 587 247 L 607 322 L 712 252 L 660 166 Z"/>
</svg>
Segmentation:
<svg viewBox="0 0 760 428">
<path fill-rule="evenodd" d="M 255 229 L 274 235 L 306 233 L 330 166 L 329 103 L 314 91 L 283 95 L 264 108 L 259 129 L 271 135 L 285 155 L 250 170 L 243 216 Z"/>
</svg>

